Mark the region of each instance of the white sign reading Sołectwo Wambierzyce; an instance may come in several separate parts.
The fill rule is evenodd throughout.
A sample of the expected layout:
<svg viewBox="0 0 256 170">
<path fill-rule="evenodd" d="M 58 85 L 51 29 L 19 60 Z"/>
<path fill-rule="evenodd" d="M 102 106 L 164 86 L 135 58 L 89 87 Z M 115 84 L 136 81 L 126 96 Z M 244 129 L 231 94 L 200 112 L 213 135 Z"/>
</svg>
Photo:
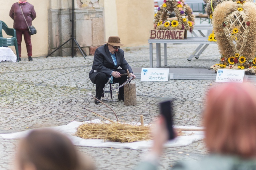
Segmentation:
<svg viewBox="0 0 256 170">
<path fill-rule="evenodd" d="M 215 82 L 238 82 L 243 83 L 244 70 L 218 69 Z"/>
</svg>

